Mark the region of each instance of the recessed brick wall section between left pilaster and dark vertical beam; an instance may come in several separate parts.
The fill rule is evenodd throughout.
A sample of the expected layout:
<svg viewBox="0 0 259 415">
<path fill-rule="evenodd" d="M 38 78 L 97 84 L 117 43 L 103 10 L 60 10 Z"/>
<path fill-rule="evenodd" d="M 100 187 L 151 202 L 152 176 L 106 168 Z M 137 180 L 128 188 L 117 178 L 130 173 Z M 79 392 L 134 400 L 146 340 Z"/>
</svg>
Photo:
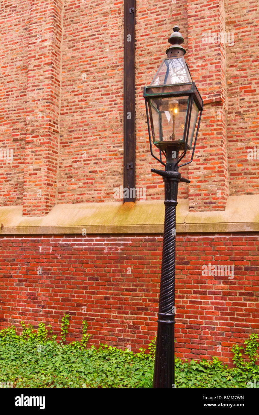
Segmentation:
<svg viewBox="0 0 259 415">
<path fill-rule="evenodd" d="M 123 1 L 66 1 L 57 203 L 123 184 Z"/>
</svg>

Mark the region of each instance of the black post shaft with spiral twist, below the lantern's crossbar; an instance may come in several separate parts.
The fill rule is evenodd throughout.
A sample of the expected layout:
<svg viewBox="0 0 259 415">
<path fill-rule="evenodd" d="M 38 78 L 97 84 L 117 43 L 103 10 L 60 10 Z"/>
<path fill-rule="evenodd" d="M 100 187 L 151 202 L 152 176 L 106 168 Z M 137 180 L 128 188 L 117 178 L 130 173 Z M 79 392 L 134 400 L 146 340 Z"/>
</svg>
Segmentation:
<svg viewBox="0 0 259 415">
<path fill-rule="evenodd" d="M 153 388 L 175 387 L 175 216 L 180 179 L 181 175 L 178 172 L 172 175 L 163 173 L 165 225 Z"/>
</svg>

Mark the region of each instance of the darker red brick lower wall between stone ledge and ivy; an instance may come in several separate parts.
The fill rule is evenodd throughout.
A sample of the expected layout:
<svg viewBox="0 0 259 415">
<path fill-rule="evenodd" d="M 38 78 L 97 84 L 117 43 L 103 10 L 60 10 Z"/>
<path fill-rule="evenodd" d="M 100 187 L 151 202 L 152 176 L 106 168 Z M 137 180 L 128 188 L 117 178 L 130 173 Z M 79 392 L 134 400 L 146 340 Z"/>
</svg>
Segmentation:
<svg viewBox="0 0 259 415">
<path fill-rule="evenodd" d="M 177 356 L 229 362 L 233 343 L 259 333 L 258 249 L 258 234 L 177 235 Z M 70 339 L 83 319 L 91 344 L 137 350 L 154 337 L 161 235 L 1 237 L 0 255 L 1 328 L 59 332 L 66 312 Z M 202 276 L 209 263 L 234 264 L 234 278 Z"/>
</svg>

